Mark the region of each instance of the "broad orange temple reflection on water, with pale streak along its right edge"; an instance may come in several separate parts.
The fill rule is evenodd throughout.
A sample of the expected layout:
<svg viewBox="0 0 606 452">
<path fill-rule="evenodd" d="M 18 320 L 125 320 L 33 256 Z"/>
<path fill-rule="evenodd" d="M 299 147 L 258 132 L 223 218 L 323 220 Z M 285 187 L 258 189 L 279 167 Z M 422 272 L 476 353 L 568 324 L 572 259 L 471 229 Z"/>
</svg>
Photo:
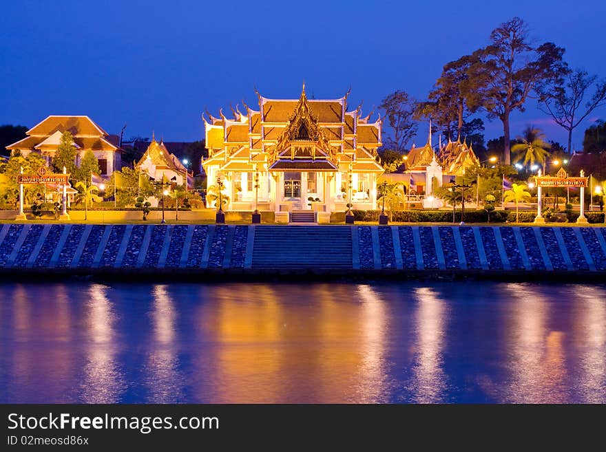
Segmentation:
<svg viewBox="0 0 606 452">
<path fill-rule="evenodd" d="M 374 402 L 382 385 L 387 316 L 368 286 L 313 285 L 289 297 L 281 286 L 231 286 L 207 294 L 198 312 L 200 400 Z M 214 383 L 214 382 L 220 383 Z"/>
</svg>

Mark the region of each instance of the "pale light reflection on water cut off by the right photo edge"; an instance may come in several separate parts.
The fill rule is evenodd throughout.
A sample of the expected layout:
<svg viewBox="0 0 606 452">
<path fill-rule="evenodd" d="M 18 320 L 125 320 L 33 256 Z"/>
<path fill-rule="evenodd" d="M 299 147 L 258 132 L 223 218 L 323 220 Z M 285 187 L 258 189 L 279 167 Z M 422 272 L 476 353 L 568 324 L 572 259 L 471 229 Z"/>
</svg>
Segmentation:
<svg viewBox="0 0 606 452">
<path fill-rule="evenodd" d="M 574 322 L 579 350 L 579 398 L 587 403 L 606 403 L 606 290 L 575 291 Z"/>
</svg>

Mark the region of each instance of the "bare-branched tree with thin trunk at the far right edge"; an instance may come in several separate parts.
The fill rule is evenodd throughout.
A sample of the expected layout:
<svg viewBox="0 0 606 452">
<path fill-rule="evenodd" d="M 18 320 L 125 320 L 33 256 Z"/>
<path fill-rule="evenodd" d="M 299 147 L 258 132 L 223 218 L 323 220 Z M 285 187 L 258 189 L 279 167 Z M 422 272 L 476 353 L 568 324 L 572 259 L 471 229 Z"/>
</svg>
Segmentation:
<svg viewBox="0 0 606 452">
<path fill-rule="evenodd" d="M 592 89 L 591 98 L 583 104 L 583 99 Z M 566 74 L 562 83 L 544 85 L 541 88 L 539 109 L 549 114 L 557 125 L 568 131 L 567 151 L 572 151 L 572 131 L 598 107 L 606 105 L 606 81 L 598 76 L 589 76 L 583 69 Z M 585 108 L 583 112 L 581 107 Z"/>
</svg>

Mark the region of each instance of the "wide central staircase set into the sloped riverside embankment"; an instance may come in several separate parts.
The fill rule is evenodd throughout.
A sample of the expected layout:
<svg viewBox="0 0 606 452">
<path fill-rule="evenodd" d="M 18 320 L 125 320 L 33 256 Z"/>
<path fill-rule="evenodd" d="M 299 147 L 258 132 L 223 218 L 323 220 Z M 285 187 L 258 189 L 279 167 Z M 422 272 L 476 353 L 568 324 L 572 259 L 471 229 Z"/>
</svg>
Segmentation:
<svg viewBox="0 0 606 452">
<path fill-rule="evenodd" d="M 348 226 L 257 226 L 253 268 L 351 268 Z"/>
</svg>

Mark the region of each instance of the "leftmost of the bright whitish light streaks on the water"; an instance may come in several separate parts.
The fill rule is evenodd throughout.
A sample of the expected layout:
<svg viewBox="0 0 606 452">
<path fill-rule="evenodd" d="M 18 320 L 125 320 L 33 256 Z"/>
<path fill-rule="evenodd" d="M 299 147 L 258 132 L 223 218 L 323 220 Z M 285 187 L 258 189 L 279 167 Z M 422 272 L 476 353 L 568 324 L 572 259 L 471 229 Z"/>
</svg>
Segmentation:
<svg viewBox="0 0 606 452">
<path fill-rule="evenodd" d="M 116 362 L 118 347 L 114 329 L 117 316 L 107 290 L 107 286 L 92 284 L 88 291 L 90 299 L 84 306 L 88 337 L 81 398 L 85 403 L 116 403 L 125 389 Z"/>
</svg>

